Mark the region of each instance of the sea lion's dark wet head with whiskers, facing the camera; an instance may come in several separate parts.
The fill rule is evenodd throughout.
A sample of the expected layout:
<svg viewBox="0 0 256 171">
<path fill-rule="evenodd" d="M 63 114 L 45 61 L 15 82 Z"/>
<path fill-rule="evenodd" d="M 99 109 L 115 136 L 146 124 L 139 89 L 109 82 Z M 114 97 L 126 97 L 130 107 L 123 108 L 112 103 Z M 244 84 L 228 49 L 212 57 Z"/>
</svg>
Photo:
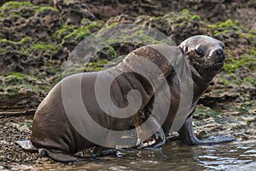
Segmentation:
<svg viewBox="0 0 256 171">
<path fill-rule="evenodd" d="M 202 35 L 189 37 L 178 47 L 204 79 L 212 80 L 224 65 L 224 43 L 215 38 Z"/>
</svg>

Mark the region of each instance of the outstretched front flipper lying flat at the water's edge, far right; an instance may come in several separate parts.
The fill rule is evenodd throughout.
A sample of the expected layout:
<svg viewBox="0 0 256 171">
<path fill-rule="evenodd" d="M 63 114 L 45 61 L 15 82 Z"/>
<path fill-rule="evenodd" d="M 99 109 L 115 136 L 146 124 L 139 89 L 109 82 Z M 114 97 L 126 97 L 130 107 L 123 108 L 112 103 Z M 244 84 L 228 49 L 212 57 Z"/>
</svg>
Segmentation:
<svg viewBox="0 0 256 171">
<path fill-rule="evenodd" d="M 221 135 L 218 135 L 217 137 L 210 137 L 208 139 L 199 140 L 197 137 L 195 137 L 194 130 L 192 127 L 192 119 L 192 116 L 189 117 L 189 119 L 183 124 L 183 127 L 178 131 L 179 140 L 181 140 L 184 144 L 214 145 L 236 140 L 236 138 Z"/>
</svg>

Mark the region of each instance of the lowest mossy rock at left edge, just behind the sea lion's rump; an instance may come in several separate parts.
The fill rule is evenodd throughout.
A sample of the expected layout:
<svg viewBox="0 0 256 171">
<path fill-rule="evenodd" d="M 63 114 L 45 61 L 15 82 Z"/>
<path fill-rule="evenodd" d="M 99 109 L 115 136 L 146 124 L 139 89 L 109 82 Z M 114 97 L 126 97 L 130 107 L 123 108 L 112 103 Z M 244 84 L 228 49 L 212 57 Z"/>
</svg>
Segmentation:
<svg viewBox="0 0 256 171">
<path fill-rule="evenodd" d="M 37 77 L 12 72 L 0 77 L 0 108 L 35 107 L 40 96 L 49 90 L 49 85 Z"/>
</svg>

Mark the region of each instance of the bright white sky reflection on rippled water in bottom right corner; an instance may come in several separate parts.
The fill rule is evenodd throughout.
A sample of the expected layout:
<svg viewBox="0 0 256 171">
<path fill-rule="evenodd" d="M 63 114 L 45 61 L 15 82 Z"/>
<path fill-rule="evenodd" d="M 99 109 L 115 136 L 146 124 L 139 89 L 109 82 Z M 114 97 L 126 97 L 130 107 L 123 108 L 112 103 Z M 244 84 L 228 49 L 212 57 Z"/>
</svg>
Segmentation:
<svg viewBox="0 0 256 171">
<path fill-rule="evenodd" d="M 256 170 L 255 148 L 254 143 L 241 142 L 201 146 L 201 155 L 197 158 L 201 166 L 214 170 Z"/>
</svg>

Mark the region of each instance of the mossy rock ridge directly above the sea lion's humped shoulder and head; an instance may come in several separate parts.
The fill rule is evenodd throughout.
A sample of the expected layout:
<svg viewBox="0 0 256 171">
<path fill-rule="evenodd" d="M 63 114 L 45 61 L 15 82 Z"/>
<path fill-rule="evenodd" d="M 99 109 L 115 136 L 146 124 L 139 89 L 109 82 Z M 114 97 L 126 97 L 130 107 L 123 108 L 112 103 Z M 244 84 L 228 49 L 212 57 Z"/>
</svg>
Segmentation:
<svg viewBox="0 0 256 171">
<path fill-rule="evenodd" d="M 142 15 L 134 18 L 126 14 L 121 14 L 110 18 L 106 22 L 106 26 L 113 26 L 114 24 L 150 26 L 171 37 L 172 41 L 176 44 L 194 35 L 207 34 L 207 30 L 204 29 L 205 23 L 198 15 L 191 14 L 187 9 L 178 13 L 171 12 L 158 17 Z"/>
</svg>

